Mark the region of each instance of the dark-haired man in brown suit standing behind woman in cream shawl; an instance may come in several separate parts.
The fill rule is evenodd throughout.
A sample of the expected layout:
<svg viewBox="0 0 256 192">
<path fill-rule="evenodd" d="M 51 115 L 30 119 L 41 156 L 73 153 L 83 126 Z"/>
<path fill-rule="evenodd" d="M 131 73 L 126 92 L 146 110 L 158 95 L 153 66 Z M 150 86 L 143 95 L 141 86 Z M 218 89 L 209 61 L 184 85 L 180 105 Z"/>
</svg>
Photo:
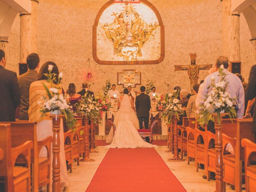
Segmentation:
<svg viewBox="0 0 256 192">
<path fill-rule="evenodd" d="M 20 88 L 20 114 L 19 120 L 28 120 L 29 88 L 30 84 L 38 78 L 40 59 L 38 54 L 31 53 L 27 57 L 28 71 L 18 77 Z"/>
</svg>

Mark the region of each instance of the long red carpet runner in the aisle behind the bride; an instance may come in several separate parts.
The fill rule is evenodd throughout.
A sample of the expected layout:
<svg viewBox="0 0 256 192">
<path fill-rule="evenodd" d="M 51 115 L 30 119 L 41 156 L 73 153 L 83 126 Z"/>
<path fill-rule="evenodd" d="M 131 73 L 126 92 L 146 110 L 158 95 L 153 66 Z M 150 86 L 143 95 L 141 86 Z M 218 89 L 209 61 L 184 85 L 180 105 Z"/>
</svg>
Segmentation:
<svg viewBox="0 0 256 192">
<path fill-rule="evenodd" d="M 86 192 L 186 192 L 186 190 L 154 148 L 111 148 Z"/>
</svg>

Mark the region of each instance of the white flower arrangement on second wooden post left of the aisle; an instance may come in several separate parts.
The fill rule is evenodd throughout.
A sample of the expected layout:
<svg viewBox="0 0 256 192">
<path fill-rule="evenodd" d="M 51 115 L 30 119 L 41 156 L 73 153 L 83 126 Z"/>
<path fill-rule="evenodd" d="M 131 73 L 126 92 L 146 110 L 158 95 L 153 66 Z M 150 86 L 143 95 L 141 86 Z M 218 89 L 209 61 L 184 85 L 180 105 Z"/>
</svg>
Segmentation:
<svg viewBox="0 0 256 192">
<path fill-rule="evenodd" d="M 98 102 L 94 101 L 92 96 L 82 96 L 79 102 L 76 103 L 76 112 L 80 116 L 88 115 L 90 119 L 93 119 L 96 123 L 97 121 L 102 122 L 102 116 L 100 114 L 100 108 Z"/>
</svg>

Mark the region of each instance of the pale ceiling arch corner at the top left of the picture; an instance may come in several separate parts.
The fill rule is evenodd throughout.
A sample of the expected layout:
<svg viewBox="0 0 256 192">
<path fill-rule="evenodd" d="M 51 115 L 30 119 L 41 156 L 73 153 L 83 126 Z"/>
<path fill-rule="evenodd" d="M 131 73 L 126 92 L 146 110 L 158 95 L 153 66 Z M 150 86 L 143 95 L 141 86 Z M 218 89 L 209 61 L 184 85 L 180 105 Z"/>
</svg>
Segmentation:
<svg viewBox="0 0 256 192">
<path fill-rule="evenodd" d="M 0 0 L 0 39 L 8 40 L 17 13 L 30 11 L 30 0 Z"/>
</svg>

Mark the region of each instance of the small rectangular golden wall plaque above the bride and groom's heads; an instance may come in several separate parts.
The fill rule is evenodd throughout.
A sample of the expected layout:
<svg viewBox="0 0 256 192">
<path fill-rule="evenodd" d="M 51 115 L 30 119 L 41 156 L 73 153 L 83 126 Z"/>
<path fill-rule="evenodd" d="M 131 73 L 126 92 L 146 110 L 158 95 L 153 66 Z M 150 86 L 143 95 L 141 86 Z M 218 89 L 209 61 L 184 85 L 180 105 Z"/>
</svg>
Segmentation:
<svg viewBox="0 0 256 192">
<path fill-rule="evenodd" d="M 117 84 L 122 85 L 123 88 L 127 88 L 128 86 L 136 87 L 136 85 L 141 85 L 141 72 L 136 72 L 135 69 L 118 72 Z"/>
</svg>

